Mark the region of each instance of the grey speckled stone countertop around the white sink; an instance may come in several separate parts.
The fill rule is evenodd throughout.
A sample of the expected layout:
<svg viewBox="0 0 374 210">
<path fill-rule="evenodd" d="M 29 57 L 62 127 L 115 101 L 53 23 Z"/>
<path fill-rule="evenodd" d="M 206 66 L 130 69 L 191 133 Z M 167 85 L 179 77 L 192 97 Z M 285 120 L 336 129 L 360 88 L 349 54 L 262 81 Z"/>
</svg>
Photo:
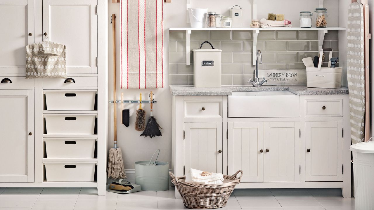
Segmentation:
<svg viewBox="0 0 374 210">
<path fill-rule="evenodd" d="M 295 95 L 346 95 L 347 87 L 336 89 L 311 88 L 306 85 L 278 85 L 278 86 L 223 86 L 223 87 L 191 87 L 170 86 L 173 96 L 230 96 L 238 91 L 289 91 Z"/>
</svg>

